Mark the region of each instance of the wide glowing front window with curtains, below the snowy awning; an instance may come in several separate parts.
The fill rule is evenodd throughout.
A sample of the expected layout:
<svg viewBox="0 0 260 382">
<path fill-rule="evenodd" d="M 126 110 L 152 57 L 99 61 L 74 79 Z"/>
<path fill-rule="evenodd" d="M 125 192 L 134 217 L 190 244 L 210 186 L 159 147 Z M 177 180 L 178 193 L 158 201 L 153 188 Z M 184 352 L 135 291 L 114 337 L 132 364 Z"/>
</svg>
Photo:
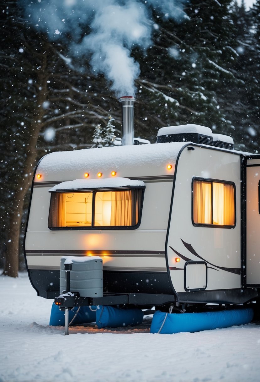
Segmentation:
<svg viewBox="0 0 260 382">
<path fill-rule="evenodd" d="M 144 187 L 52 192 L 50 229 L 138 228 Z"/>
</svg>

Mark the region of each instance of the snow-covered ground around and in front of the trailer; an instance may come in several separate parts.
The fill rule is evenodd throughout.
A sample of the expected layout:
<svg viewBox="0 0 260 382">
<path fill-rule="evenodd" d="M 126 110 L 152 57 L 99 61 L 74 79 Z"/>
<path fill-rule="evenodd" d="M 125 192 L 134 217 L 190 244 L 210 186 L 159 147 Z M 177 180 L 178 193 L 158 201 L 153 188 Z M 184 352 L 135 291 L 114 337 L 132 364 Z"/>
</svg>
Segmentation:
<svg viewBox="0 0 260 382">
<path fill-rule="evenodd" d="M 50 327 L 53 301 L 26 273 L 0 276 L 0 382 L 258 382 L 260 325 L 200 333 L 138 328 Z"/>
</svg>

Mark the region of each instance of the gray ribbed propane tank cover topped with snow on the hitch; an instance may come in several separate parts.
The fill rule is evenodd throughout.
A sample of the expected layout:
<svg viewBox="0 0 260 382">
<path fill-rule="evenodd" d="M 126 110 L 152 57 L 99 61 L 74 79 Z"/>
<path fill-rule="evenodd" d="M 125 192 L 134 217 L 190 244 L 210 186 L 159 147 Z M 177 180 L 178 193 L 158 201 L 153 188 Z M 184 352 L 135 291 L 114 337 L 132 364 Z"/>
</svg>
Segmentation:
<svg viewBox="0 0 260 382">
<path fill-rule="evenodd" d="M 79 292 L 80 297 L 103 297 L 103 261 L 98 256 L 61 257 L 59 293 L 66 290 L 64 262 L 70 260 L 70 291 Z"/>
</svg>

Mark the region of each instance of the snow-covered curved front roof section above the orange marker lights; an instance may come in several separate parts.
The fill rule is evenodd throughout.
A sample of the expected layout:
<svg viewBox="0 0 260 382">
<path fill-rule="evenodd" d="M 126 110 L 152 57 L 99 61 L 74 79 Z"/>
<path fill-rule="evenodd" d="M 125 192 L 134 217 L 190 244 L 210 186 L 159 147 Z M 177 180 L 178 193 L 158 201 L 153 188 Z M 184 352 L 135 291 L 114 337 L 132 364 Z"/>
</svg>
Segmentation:
<svg viewBox="0 0 260 382">
<path fill-rule="evenodd" d="M 53 152 L 40 161 L 37 173 L 41 178 L 35 177 L 35 183 L 84 179 L 86 172 L 87 180 L 96 179 L 98 172 L 102 178 L 111 178 L 112 171 L 117 173 L 116 178 L 164 175 L 163 168 L 165 175 L 173 175 L 178 154 L 186 144 L 169 142 Z M 167 170 L 168 163 L 172 164 L 172 171 Z"/>
</svg>

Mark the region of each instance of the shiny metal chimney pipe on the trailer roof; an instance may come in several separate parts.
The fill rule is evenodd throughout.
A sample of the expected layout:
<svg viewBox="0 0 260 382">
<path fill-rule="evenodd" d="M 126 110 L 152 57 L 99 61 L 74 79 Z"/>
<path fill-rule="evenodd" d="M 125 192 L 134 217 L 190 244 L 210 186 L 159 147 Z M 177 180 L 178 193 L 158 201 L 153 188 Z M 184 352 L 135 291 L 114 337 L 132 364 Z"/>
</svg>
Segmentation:
<svg viewBox="0 0 260 382">
<path fill-rule="evenodd" d="M 133 103 L 135 98 L 125 96 L 119 98 L 122 103 L 122 144 L 121 146 L 133 145 Z"/>
</svg>

